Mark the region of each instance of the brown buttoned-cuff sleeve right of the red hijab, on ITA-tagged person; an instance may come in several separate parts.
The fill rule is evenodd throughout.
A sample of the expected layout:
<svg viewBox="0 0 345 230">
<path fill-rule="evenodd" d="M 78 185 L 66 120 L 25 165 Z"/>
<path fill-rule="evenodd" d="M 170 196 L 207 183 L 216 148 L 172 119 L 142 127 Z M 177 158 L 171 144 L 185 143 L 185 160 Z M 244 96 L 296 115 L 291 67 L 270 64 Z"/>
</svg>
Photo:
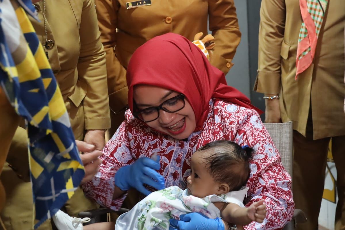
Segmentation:
<svg viewBox="0 0 345 230">
<path fill-rule="evenodd" d="M 209 0 L 208 20 L 216 44 L 210 54 L 210 62 L 227 74 L 233 66 L 231 61 L 241 40 L 234 0 Z"/>
</svg>

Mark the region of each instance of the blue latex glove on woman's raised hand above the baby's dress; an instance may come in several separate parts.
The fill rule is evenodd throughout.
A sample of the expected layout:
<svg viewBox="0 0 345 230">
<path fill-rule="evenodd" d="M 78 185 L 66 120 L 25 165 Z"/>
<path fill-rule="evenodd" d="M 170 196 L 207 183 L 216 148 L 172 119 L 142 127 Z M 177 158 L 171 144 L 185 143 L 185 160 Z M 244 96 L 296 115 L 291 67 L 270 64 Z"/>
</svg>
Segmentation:
<svg viewBox="0 0 345 230">
<path fill-rule="evenodd" d="M 133 164 L 121 167 L 115 175 L 115 185 L 123 191 L 135 188 L 145 196 L 151 192 L 143 184 L 147 184 L 158 190 L 164 189 L 164 177 L 155 171 L 160 169 L 159 160 L 159 156 L 157 156 L 156 161 L 148 157 L 141 157 Z"/>
</svg>

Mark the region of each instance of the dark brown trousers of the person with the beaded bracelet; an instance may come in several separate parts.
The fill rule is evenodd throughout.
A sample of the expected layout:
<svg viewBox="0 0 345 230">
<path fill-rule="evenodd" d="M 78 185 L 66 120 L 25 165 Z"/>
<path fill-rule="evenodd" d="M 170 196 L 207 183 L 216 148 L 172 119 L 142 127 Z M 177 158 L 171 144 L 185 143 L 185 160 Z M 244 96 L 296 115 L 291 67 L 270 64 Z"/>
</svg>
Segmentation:
<svg viewBox="0 0 345 230">
<path fill-rule="evenodd" d="M 324 190 L 329 141 L 337 170 L 338 203 L 335 230 L 345 230 L 345 136 L 313 140 L 312 122 L 308 119 L 306 137 L 294 130 L 293 194 L 297 209 L 302 209 L 307 223 L 297 224 L 297 230 L 317 230 Z"/>
</svg>

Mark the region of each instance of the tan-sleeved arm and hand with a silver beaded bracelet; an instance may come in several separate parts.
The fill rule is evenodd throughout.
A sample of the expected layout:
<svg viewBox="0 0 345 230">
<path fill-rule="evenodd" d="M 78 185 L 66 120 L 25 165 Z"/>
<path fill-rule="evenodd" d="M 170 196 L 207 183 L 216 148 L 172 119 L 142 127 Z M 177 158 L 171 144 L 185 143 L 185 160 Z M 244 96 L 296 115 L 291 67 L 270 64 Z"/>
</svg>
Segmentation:
<svg viewBox="0 0 345 230">
<path fill-rule="evenodd" d="M 280 49 L 284 40 L 285 1 L 262 0 L 260 8 L 258 73 L 254 90 L 265 96 L 280 93 Z M 279 100 L 265 99 L 265 122 L 281 122 Z"/>
</svg>

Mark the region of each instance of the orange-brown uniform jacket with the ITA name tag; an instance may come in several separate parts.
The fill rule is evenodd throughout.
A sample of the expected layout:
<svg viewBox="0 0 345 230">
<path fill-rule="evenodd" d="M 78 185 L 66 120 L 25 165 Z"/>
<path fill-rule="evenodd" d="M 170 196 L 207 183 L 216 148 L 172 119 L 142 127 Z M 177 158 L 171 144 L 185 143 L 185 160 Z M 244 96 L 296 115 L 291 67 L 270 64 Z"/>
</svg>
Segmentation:
<svg viewBox="0 0 345 230">
<path fill-rule="evenodd" d="M 132 53 L 155 36 L 173 32 L 193 41 L 196 33 L 207 34 L 209 17 L 209 29 L 216 43 L 211 63 L 224 73 L 233 66 L 231 60 L 241 36 L 234 0 L 151 0 L 150 6 L 127 9 L 126 3 L 131 1 L 96 0 L 113 110 L 127 103 L 126 67 Z M 117 99 L 114 103 L 113 98 Z"/>
</svg>

